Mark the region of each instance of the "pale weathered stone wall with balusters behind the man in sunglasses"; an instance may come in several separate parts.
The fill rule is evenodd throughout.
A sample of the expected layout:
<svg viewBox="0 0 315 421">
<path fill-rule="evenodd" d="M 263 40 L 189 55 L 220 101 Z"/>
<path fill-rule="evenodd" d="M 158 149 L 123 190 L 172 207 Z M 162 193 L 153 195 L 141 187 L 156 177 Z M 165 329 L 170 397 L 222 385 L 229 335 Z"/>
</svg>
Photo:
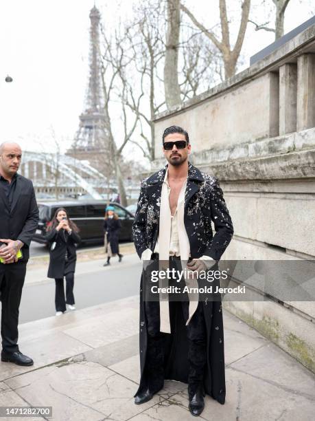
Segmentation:
<svg viewBox="0 0 315 421">
<path fill-rule="evenodd" d="M 191 162 L 218 177 L 235 235 L 223 259 L 315 259 L 315 25 L 180 107 L 156 116 L 185 127 Z M 225 302 L 315 371 L 314 302 Z"/>
</svg>

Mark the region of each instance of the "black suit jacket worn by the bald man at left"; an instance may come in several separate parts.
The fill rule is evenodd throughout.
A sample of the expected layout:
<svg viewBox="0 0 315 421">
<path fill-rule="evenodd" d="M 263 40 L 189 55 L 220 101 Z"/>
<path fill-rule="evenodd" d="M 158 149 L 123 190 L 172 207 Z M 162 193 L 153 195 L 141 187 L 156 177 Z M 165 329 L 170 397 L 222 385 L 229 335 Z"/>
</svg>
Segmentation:
<svg viewBox="0 0 315 421">
<path fill-rule="evenodd" d="M 38 207 L 33 183 L 22 175 L 17 175 L 12 206 L 0 188 L 0 238 L 21 240 L 23 261 L 30 257 L 30 242 L 38 226 Z"/>
</svg>

